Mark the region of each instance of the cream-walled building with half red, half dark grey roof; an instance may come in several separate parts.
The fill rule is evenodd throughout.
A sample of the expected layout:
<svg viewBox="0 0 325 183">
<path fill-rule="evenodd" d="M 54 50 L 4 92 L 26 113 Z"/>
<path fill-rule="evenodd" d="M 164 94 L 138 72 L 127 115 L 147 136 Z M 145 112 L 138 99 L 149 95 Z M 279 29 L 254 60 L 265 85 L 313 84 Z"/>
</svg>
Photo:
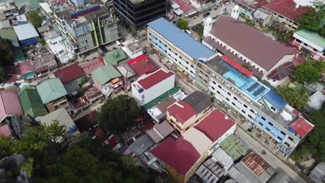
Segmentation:
<svg viewBox="0 0 325 183">
<path fill-rule="evenodd" d="M 167 121 L 183 134 L 212 110 L 210 96 L 196 91 L 167 108 Z"/>
</svg>

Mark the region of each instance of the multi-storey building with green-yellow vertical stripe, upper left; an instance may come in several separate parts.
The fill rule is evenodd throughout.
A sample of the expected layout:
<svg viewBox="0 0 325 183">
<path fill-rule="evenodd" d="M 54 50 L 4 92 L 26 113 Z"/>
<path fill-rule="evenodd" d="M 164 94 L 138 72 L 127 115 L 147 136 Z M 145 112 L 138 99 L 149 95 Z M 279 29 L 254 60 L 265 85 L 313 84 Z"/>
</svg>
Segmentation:
<svg viewBox="0 0 325 183">
<path fill-rule="evenodd" d="M 67 38 L 69 49 L 81 54 L 119 39 L 117 19 L 100 5 L 78 9 L 70 4 L 51 4 L 56 23 Z"/>
</svg>

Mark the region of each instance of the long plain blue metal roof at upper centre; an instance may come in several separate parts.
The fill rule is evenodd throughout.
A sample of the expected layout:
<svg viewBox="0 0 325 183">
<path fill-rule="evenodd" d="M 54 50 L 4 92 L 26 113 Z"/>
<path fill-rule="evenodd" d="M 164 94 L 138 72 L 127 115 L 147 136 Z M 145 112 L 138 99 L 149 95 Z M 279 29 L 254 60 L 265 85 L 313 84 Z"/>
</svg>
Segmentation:
<svg viewBox="0 0 325 183">
<path fill-rule="evenodd" d="M 148 26 L 194 59 L 210 58 L 215 55 L 215 52 L 195 40 L 188 33 L 183 32 L 177 26 L 174 26 L 165 18 L 151 21 L 148 23 Z"/>
</svg>

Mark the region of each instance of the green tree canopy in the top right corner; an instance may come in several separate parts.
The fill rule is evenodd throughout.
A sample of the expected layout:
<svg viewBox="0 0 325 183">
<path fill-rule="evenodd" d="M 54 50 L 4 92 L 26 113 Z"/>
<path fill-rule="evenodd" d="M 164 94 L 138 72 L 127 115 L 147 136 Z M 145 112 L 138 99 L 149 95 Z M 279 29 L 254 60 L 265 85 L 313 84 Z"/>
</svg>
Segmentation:
<svg viewBox="0 0 325 183">
<path fill-rule="evenodd" d="M 324 37 L 325 26 L 322 21 L 325 19 L 325 4 L 322 1 L 313 1 L 313 8 L 303 13 L 299 21 L 300 28 L 313 30 Z"/>
</svg>

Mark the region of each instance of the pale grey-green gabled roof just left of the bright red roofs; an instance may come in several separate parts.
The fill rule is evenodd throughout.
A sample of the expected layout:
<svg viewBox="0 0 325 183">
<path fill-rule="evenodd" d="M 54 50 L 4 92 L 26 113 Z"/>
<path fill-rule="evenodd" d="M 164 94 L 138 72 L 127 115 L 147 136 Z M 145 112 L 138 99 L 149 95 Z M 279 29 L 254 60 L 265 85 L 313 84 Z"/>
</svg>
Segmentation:
<svg viewBox="0 0 325 183">
<path fill-rule="evenodd" d="M 104 85 L 106 82 L 121 77 L 121 73 L 115 69 L 112 64 L 107 64 L 102 67 L 98 67 L 92 71 L 92 76 L 101 84 Z"/>
</svg>

